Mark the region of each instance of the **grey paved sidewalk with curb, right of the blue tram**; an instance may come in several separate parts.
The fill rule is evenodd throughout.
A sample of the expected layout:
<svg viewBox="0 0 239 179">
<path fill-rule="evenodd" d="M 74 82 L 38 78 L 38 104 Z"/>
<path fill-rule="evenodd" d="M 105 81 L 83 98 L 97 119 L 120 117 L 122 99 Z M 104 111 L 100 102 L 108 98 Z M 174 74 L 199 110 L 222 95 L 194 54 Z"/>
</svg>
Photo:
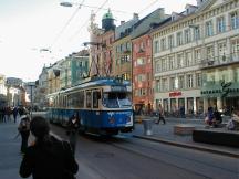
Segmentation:
<svg viewBox="0 0 239 179">
<path fill-rule="evenodd" d="M 147 119 L 154 119 L 154 117 L 153 118 L 147 117 Z M 210 145 L 204 143 L 195 143 L 193 141 L 191 135 L 175 135 L 174 125 L 185 124 L 185 123 L 195 126 L 196 129 L 205 127 L 201 119 L 185 119 L 185 118 L 167 119 L 166 118 L 166 125 L 163 125 L 162 122 L 159 125 L 153 123 L 152 135 L 144 134 L 143 123 L 136 123 L 135 129 L 133 131 L 133 136 L 142 139 L 159 141 L 159 143 L 169 144 L 178 147 L 191 148 L 191 149 L 204 150 L 214 154 L 239 158 L 239 148 Z"/>
</svg>

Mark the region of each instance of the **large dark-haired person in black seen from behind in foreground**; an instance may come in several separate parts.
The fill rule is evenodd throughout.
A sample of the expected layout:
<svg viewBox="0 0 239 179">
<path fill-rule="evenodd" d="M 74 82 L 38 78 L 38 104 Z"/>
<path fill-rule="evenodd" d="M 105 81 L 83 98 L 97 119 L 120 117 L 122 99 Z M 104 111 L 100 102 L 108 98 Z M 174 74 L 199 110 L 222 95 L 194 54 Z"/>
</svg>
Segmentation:
<svg viewBox="0 0 239 179">
<path fill-rule="evenodd" d="M 32 118 L 30 130 L 35 141 L 27 148 L 20 176 L 28 178 L 32 175 L 33 179 L 74 179 L 79 165 L 70 144 L 50 135 L 50 125 L 41 116 Z"/>
</svg>

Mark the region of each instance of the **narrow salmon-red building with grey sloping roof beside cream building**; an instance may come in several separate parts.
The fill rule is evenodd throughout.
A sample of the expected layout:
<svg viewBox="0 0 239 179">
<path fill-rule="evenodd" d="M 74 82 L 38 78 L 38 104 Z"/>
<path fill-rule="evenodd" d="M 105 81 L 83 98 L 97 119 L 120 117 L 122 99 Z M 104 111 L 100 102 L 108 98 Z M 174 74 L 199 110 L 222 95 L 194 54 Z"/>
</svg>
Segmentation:
<svg viewBox="0 0 239 179">
<path fill-rule="evenodd" d="M 148 32 L 152 24 L 162 22 L 166 17 L 164 9 L 157 9 L 141 19 L 131 33 L 133 104 L 136 114 L 149 114 L 154 110 L 152 36 Z"/>
</svg>

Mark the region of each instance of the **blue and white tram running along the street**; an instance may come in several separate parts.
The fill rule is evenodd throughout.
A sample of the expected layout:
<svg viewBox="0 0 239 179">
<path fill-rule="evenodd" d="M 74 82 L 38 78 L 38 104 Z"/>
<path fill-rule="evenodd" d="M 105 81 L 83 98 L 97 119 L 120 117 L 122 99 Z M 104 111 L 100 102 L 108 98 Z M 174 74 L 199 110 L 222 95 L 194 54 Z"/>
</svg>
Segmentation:
<svg viewBox="0 0 239 179">
<path fill-rule="evenodd" d="M 97 77 L 50 94 L 48 118 L 62 126 L 77 113 L 80 130 L 116 135 L 133 130 L 132 86 L 129 81 Z"/>
</svg>

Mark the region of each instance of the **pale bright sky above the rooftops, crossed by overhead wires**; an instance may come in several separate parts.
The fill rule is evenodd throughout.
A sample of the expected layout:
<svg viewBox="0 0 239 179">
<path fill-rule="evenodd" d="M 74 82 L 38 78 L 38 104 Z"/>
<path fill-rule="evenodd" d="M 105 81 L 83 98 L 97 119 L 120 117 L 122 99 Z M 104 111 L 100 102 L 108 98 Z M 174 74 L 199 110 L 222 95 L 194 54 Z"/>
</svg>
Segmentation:
<svg viewBox="0 0 239 179">
<path fill-rule="evenodd" d="M 89 42 L 91 11 L 96 23 L 110 8 L 115 24 L 128 21 L 133 13 L 144 18 L 157 8 L 167 14 L 181 12 L 196 0 L 0 0 L 0 74 L 37 81 L 42 67 L 83 50 Z M 80 4 L 82 4 L 80 7 Z"/>
</svg>

